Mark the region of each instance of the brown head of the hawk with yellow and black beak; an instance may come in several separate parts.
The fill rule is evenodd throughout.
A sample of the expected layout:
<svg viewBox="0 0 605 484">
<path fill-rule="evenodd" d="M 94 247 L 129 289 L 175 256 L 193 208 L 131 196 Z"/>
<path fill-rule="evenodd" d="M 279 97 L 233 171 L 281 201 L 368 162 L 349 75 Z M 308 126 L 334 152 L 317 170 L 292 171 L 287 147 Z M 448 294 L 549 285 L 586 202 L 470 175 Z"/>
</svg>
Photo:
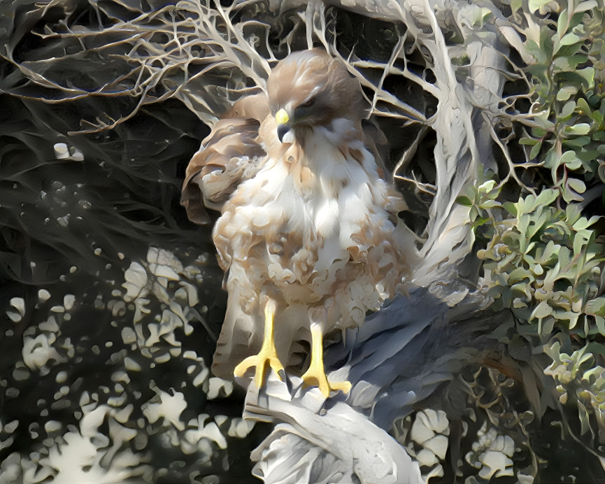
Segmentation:
<svg viewBox="0 0 605 484">
<path fill-rule="evenodd" d="M 359 81 L 320 49 L 292 52 L 278 62 L 267 94 L 284 143 L 301 141 L 313 127 L 329 128 L 339 118 L 357 122 L 368 108 Z"/>
</svg>

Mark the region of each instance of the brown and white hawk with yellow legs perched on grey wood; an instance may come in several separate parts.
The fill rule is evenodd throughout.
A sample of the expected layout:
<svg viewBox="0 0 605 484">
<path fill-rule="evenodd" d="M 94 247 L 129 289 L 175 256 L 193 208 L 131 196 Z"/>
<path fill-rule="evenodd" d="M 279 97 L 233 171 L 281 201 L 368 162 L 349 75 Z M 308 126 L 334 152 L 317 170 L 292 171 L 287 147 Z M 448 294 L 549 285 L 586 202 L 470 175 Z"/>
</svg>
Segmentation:
<svg viewBox="0 0 605 484">
<path fill-rule="evenodd" d="M 324 336 L 361 325 L 407 269 L 396 237 L 404 202 L 381 176 L 368 108 L 342 62 L 293 52 L 266 93 L 222 116 L 187 166 L 190 219 L 206 222 L 204 206 L 221 213 L 213 241 L 228 298 L 216 375 L 255 369 L 261 386 L 268 366 L 281 378 L 300 365 L 307 342 L 304 383 L 325 397 L 348 392 L 350 383 L 327 379 Z"/>
</svg>

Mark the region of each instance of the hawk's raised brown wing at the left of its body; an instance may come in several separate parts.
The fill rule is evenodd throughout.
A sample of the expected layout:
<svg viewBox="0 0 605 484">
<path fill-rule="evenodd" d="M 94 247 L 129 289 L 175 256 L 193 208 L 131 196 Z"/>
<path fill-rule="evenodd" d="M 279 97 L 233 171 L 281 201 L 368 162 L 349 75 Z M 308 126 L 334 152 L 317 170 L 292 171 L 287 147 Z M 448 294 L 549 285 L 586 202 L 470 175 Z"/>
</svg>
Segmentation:
<svg viewBox="0 0 605 484">
<path fill-rule="evenodd" d="M 244 97 L 201 142 L 187 166 L 180 201 L 192 222 L 211 222 L 206 208 L 220 211 L 237 185 L 261 168 L 266 152 L 258 131 L 267 115 L 269 103 L 264 93 Z"/>
</svg>

